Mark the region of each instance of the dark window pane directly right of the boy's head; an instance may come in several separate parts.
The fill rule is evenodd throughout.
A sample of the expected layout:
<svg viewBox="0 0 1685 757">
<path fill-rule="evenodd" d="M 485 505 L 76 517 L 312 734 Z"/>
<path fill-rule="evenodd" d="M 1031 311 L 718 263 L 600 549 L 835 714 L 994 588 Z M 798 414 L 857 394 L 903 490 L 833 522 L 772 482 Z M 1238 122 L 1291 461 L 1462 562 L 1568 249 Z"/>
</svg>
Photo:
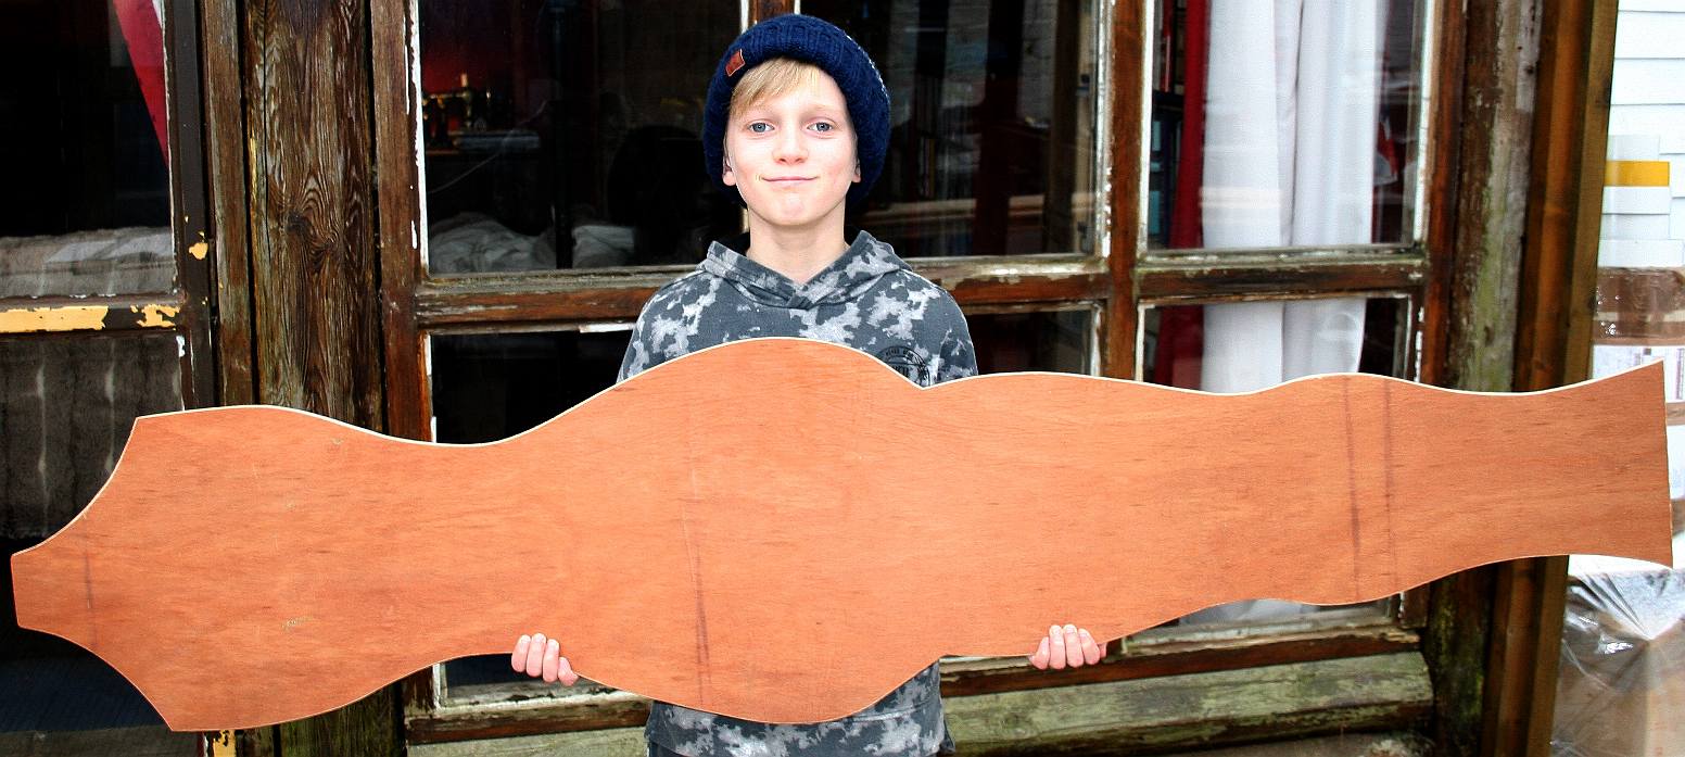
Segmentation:
<svg viewBox="0 0 1685 757">
<path fill-rule="evenodd" d="M 890 153 L 851 226 L 903 258 L 1092 253 L 1092 0 L 804 0 L 871 54 Z"/>
</svg>

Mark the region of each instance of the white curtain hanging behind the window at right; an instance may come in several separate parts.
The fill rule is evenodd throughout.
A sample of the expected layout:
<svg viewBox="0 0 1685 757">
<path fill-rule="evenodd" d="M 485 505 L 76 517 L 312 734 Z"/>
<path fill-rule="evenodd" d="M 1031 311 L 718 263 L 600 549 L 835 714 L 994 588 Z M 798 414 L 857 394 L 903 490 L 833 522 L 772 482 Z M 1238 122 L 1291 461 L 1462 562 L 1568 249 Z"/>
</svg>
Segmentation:
<svg viewBox="0 0 1685 757">
<path fill-rule="evenodd" d="M 1206 248 L 1368 243 L 1385 0 L 1212 0 Z M 1363 300 L 1206 305 L 1200 388 L 1356 371 Z M 1238 602 L 1193 622 L 1297 612 Z"/>
</svg>

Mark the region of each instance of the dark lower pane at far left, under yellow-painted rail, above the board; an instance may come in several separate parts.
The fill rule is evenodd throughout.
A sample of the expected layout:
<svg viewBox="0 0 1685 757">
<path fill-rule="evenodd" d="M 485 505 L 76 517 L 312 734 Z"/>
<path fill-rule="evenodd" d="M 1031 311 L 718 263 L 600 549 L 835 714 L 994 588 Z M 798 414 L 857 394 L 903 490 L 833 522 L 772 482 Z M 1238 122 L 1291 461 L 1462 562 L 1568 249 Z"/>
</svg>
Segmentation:
<svg viewBox="0 0 1685 757">
<path fill-rule="evenodd" d="M 135 418 L 180 408 L 174 334 L 0 339 L 0 538 L 71 523 Z"/>
</svg>

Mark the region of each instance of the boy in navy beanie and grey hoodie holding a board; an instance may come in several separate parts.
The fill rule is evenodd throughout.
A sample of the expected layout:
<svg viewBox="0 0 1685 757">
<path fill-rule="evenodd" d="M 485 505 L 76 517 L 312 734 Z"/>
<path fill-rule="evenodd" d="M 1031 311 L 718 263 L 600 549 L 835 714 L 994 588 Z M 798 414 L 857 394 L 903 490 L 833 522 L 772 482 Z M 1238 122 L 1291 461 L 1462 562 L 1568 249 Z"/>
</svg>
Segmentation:
<svg viewBox="0 0 1685 757">
<path fill-rule="evenodd" d="M 977 373 L 959 305 L 864 231 L 848 202 L 883 169 L 890 94 L 841 29 L 780 15 L 743 32 L 708 88 L 703 152 L 718 187 L 748 209 L 748 236 L 713 243 L 696 271 L 662 287 L 632 329 L 620 381 L 686 352 L 752 337 L 809 337 L 869 352 L 920 386 Z M 790 642 L 799 644 L 800 639 Z M 1036 668 L 1094 664 L 1085 629 L 1055 625 Z M 516 671 L 573 685 L 556 639 L 522 636 Z M 657 701 L 650 755 L 932 755 L 952 750 L 937 666 L 842 720 L 752 723 Z"/>
</svg>

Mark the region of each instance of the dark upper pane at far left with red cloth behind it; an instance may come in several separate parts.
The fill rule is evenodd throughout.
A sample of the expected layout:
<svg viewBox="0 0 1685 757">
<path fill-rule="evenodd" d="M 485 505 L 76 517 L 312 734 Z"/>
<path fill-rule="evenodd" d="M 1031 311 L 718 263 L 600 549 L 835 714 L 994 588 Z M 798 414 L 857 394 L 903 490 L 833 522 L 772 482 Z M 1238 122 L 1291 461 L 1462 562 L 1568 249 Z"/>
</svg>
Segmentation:
<svg viewBox="0 0 1685 757">
<path fill-rule="evenodd" d="M 168 292 L 157 7 L 0 3 L 0 297 Z"/>
</svg>

